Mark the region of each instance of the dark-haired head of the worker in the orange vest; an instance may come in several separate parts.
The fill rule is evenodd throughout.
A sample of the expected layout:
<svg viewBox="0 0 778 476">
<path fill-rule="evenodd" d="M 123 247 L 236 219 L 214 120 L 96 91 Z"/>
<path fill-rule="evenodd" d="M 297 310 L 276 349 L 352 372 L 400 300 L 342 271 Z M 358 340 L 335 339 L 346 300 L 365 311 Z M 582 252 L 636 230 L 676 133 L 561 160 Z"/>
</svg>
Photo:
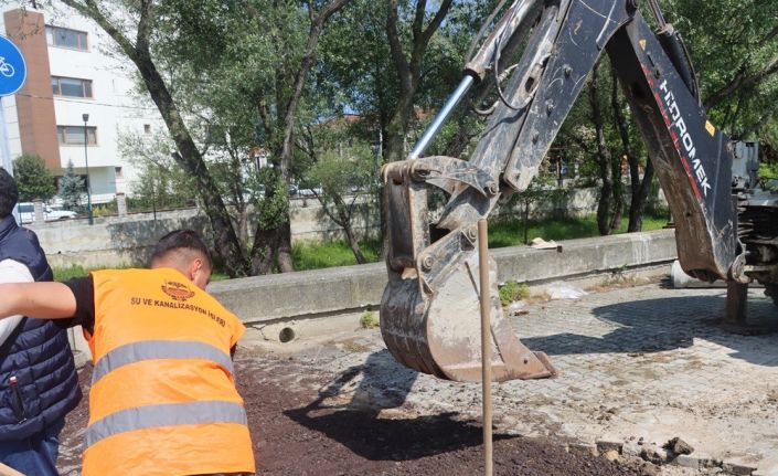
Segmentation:
<svg viewBox="0 0 778 476">
<path fill-rule="evenodd" d="M 172 267 L 183 273 L 199 288 L 211 279 L 213 261 L 205 243 L 192 230 L 175 230 L 162 236 L 151 255 L 151 267 Z"/>
</svg>

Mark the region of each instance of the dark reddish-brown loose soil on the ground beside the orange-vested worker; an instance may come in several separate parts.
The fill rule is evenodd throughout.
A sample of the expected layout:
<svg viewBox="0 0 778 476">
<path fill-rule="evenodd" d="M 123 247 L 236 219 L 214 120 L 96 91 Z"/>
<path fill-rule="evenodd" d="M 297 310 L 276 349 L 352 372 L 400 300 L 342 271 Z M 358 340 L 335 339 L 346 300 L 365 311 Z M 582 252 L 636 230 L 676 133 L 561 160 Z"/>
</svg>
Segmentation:
<svg viewBox="0 0 778 476">
<path fill-rule="evenodd" d="M 481 427 L 457 414 L 342 405 L 328 392 L 338 377 L 296 360 L 242 349 L 237 381 L 262 475 L 446 475 L 483 473 Z M 90 368 L 81 372 L 88 391 Z M 341 375 L 340 378 L 342 378 Z M 81 474 L 86 399 L 68 415 L 60 468 Z M 494 474 L 638 475 L 607 459 L 567 453 L 559 442 L 494 435 Z"/>
</svg>

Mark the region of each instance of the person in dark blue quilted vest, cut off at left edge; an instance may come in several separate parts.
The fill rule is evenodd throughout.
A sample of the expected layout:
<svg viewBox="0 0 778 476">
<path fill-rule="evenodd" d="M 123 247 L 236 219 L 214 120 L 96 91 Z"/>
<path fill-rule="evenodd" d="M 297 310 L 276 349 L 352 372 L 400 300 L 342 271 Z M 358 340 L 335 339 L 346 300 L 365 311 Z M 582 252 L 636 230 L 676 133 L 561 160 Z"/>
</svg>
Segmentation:
<svg viewBox="0 0 778 476">
<path fill-rule="evenodd" d="M 19 192 L 0 168 L 0 283 L 52 281 L 30 230 L 12 214 Z M 67 331 L 49 320 L 0 320 L 0 463 L 29 476 L 57 475 L 65 414 L 82 398 Z"/>
</svg>

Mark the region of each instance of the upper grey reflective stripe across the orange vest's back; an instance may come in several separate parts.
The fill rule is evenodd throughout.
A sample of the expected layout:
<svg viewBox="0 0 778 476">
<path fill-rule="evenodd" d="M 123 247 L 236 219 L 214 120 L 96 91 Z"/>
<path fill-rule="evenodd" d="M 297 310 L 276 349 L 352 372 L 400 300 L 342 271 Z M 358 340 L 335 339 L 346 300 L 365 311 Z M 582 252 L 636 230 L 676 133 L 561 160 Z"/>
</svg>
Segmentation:
<svg viewBox="0 0 778 476">
<path fill-rule="evenodd" d="M 152 359 L 200 359 L 216 362 L 234 374 L 233 362 L 224 351 L 190 340 L 142 340 L 117 347 L 97 361 L 92 373 L 92 383 L 119 367 Z"/>
</svg>

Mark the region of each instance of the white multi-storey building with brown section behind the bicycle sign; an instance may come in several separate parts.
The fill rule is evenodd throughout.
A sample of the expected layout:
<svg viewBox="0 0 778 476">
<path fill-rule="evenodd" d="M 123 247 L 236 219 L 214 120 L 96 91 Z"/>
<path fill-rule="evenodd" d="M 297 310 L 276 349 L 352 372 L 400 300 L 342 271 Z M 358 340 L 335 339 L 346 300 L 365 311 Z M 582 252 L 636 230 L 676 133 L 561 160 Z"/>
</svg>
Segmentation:
<svg viewBox="0 0 778 476">
<path fill-rule="evenodd" d="M 88 163 L 94 203 L 131 194 L 138 170 L 122 158 L 119 142 L 163 127 L 151 101 L 137 93 L 134 65 L 97 25 L 73 12 L 13 9 L 0 21 L 28 68 L 24 86 L 2 98 L 11 158 L 36 154 L 55 176 L 72 161 L 85 178 Z"/>
</svg>

